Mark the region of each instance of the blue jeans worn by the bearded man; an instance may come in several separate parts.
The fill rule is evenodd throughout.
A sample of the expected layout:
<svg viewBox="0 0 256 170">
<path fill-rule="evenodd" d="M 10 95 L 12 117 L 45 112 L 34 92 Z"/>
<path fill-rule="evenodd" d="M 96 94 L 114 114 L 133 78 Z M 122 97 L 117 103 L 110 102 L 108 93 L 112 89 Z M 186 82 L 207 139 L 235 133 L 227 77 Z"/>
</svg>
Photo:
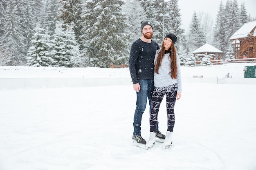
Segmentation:
<svg viewBox="0 0 256 170">
<path fill-rule="evenodd" d="M 138 79 L 140 85 L 140 91 L 137 93 L 136 109 L 133 118 L 133 135 L 140 135 L 141 132 L 141 118 L 148 104 L 151 108 L 151 98 L 154 91 L 154 81 L 152 79 Z M 149 113 L 150 113 L 149 108 Z M 158 122 L 157 122 L 157 131 L 158 131 Z"/>
</svg>

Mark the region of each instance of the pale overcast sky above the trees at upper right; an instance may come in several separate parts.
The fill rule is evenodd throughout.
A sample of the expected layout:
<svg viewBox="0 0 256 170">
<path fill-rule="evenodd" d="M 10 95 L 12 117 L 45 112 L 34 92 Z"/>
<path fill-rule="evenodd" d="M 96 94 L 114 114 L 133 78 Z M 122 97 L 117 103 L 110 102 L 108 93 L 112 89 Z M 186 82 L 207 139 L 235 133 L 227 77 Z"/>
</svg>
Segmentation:
<svg viewBox="0 0 256 170">
<path fill-rule="evenodd" d="M 227 0 L 222 0 L 222 4 L 225 7 Z M 182 18 L 182 28 L 185 31 L 189 29 L 189 23 L 192 19 L 194 11 L 196 13 L 203 11 L 212 15 L 213 22 L 216 21 L 216 16 L 219 11 L 221 0 L 179 0 L 178 5 L 180 8 L 181 18 Z M 245 2 L 245 9 L 247 10 L 247 15 L 256 17 L 256 0 L 237 0 L 238 7 Z"/>
</svg>

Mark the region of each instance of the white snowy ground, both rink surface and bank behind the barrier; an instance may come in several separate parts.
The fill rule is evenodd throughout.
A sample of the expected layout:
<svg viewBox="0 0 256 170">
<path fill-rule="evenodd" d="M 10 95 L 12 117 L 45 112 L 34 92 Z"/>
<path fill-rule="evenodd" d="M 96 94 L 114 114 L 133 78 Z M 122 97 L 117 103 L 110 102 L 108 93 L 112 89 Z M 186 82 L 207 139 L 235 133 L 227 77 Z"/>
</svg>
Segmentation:
<svg viewBox="0 0 256 170">
<path fill-rule="evenodd" d="M 243 77 L 243 67 L 182 67 L 182 75 L 228 71 Z M 0 76 L 129 76 L 127 68 L 40 69 L 0 67 Z M 255 85 L 183 83 L 182 89 L 168 150 L 161 143 L 150 150 L 132 146 L 132 85 L 0 90 L 0 170 L 256 170 Z M 147 106 L 141 129 L 146 140 L 148 119 Z M 163 103 L 163 133 L 166 119 Z"/>
</svg>

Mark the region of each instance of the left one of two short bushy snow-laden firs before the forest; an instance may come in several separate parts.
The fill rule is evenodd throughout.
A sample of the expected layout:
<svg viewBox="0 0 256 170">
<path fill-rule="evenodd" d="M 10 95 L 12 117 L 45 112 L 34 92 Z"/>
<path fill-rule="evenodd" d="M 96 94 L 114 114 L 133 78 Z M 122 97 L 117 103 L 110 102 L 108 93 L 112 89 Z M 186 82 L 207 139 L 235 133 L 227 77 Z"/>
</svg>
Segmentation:
<svg viewBox="0 0 256 170">
<path fill-rule="evenodd" d="M 45 34 L 45 30 L 37 24 L 35 34 L 31 40 L 31 47 L 27 54 L 28 66 L 51 66 L 53 60 L 50 57 L 49 48 L 51 44 L 48 42 L 49 35 Z"/>
</svg>

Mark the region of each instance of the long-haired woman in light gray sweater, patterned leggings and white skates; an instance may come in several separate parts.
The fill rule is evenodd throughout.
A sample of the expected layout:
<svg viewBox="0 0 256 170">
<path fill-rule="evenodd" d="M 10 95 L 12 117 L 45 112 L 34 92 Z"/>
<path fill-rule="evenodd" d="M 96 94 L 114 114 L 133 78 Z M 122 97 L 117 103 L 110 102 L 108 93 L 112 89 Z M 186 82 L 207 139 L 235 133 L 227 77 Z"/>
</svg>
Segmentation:
<svg viewBox="0 0 256 170">
<path fill-rule="evenodd" d="M 173 141 L 172 132 L 175 123 L 174 105 L 176 99 L 180 99 L 182 91 L 180 59 L 174 46 L 176 41 L 177 37 L 173 33 L 167 34 L 161 49 L 157 50 L 155 54 L 155 89 L 151 100 L 150 137 L 146 143 L 146 149 L 155 144 L 157 115 L 164 95 L 166 95 L 167 132 L 163 148 L 170 147 Z"/>
</svg>

